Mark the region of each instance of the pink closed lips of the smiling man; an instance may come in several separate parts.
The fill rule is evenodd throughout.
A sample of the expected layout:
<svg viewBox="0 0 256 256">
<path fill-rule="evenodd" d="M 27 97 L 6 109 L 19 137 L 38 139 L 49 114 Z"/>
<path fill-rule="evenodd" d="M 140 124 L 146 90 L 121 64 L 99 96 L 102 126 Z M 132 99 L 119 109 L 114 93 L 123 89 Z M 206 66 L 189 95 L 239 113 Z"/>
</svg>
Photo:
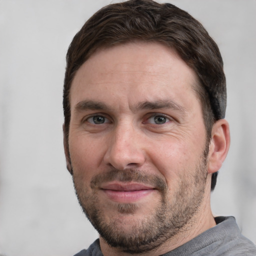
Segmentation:
<svg viewBox="0 0 256 256">
<path fill-rule="evenodd" d="M 112 201 L 119 203 L 136 202 L 155 191 L 154 187 L 140 183 L 107 183 L 100 187 Z"/>
</svg>

